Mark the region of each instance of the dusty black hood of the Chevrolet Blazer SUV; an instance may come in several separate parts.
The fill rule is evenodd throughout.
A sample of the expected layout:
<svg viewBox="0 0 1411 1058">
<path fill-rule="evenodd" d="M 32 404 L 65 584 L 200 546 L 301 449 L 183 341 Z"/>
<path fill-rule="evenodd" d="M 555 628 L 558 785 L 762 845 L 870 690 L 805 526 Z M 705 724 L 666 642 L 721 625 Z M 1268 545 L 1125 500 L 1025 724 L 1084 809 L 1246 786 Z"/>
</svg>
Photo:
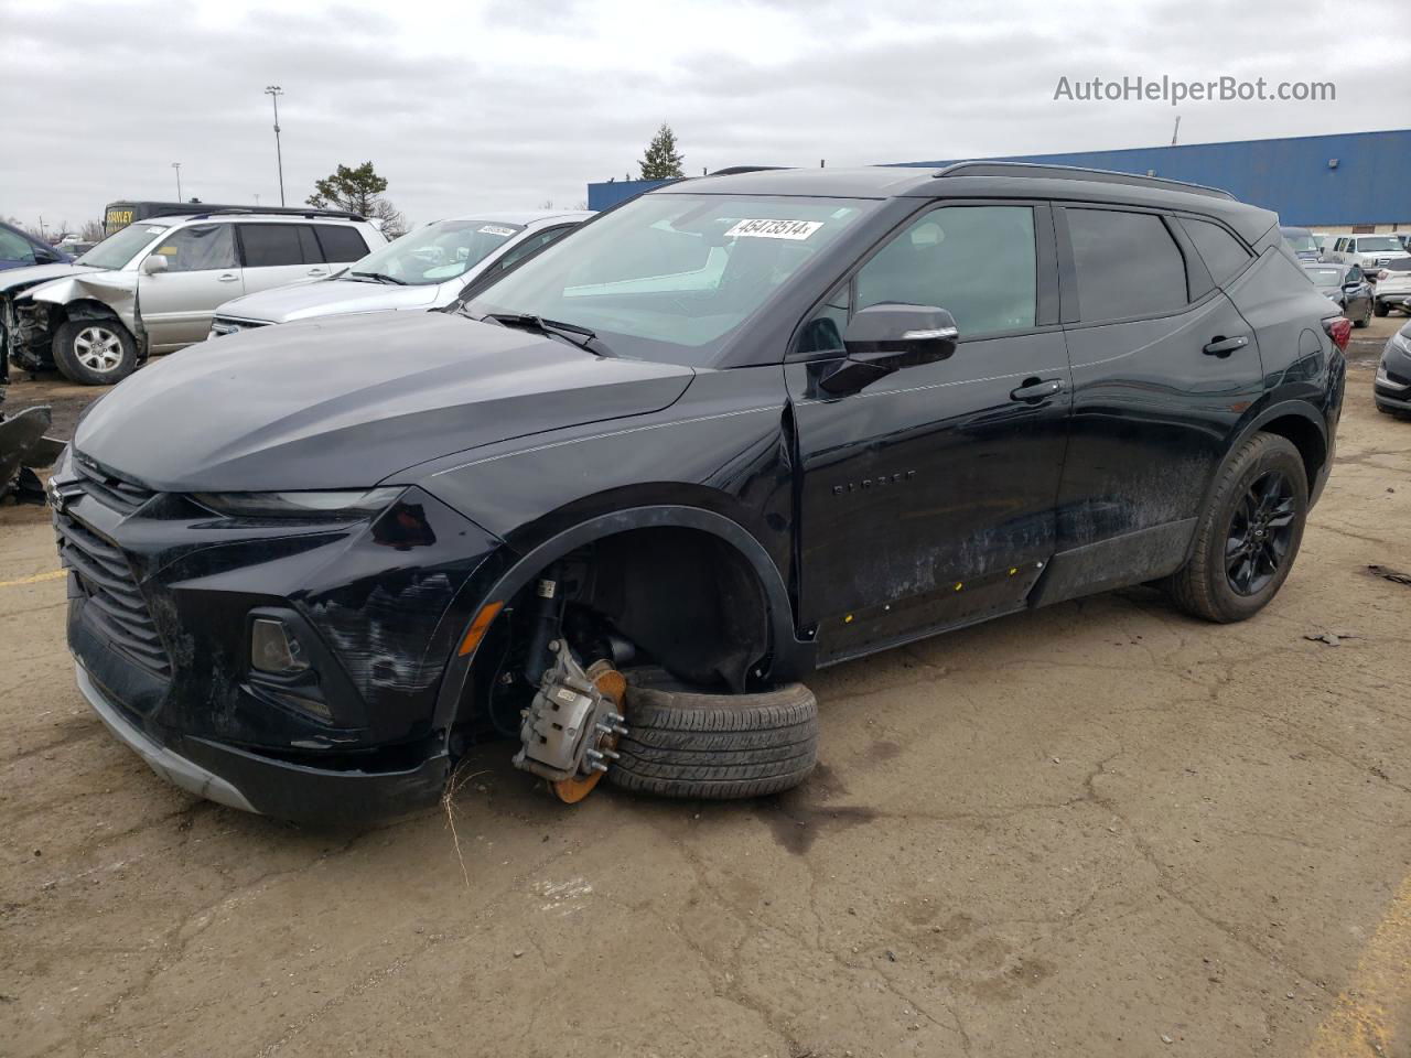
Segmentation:
<svg viewBox="0 0 1411 1058">
<path fill-rule="evenodd" d="M 164 492 L 365 488 L 481 444 L 660 411 L 693 377 L 440 312 L 334 319 L 164 357 L 95 403 L 73 447 Z"/>
</svg>

